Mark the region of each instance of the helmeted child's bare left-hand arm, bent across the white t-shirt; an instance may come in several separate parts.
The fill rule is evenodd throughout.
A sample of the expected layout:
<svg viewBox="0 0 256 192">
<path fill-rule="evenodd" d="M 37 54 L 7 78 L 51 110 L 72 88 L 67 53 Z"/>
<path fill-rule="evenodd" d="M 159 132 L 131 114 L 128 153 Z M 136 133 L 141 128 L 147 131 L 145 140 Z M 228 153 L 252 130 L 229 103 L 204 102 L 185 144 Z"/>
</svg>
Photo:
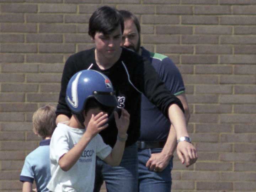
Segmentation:
<svg viewBox="0 0 256 192">
<path fill-rule="evenodd" d="M 96 116 L 92 114 L 86 131 L 79 142 L 59 159 L 59 166 L 63 171 L 68 171 L 78 161 L 91 139 L 108 126 L 106 124 L 107 120 L 107 114 L 103 112 L 98 113 Z"/>
</svg>

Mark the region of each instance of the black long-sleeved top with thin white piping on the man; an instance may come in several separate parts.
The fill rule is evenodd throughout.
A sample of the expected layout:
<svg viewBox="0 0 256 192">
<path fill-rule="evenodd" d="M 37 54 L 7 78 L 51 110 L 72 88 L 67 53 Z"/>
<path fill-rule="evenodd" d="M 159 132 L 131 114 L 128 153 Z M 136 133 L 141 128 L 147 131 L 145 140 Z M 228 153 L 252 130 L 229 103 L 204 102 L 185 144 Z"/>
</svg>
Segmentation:
<svg viewBox="0 0 256 192">
<path fill-rule="evenodd" d="M 154 103 L 166 117 L 168 117 L 168 108 L 172 103 L 176 103 L 183 110 L 180 100 L 166 89 L 148 60 L 144 60 L 131 50 L 122 48 L 119 60 L 111 68 L 101 70 L 95 61 L 95 48 L 92 48 L 71 55 L 66 61 L 62 74 L 57 115 L 65 114 L 71 117 L 71 111 L 65 102 L 66 87 L 69 79 L 84 69 L 93 69 L 105 74 L 111 80 L 116 91 L 119 107 L 124 107 L 130 114 L 126 146 L 135 143 L 139 138 L 141 93 Z M 114 146 L 117 138 L 114 119 L 110 121 L 106 129 L 100 132 L 100 135 L 106 144 Z"/>
</svg>

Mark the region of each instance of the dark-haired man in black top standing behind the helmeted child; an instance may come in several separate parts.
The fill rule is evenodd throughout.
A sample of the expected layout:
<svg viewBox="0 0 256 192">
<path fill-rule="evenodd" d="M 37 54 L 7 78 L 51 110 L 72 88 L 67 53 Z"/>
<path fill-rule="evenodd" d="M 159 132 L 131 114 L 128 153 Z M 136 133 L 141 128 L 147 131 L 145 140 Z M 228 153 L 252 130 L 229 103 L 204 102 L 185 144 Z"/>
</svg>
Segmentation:
<svg viewBox="0 0 256 192">
<path fill-rule="evenodd" d="M 128 139 L 120 166 L 111 167 L 97 160 L 95 190 L 99 191 L 103 180 L 109 192 L 136 192 L 138 188 L 138 158 L 136 141 L 140 128 L 140 95 L 143 93 L 162 111 L 174 125 L 177 137 L 188 136 L 183 107 L 180 100 L 166 89 L 153 66 L 138 54 L 121 48 L 124 22 L 116 9 L 103 6 L 98 8 L 89 20 L 89 35 L 95 48 L 71 55 L 65 63 L 62 85 L 57 106 L 57 123 L 69 119 L 71 112 L 65 103 L 66 86 L 76 72 L 83 69 L 100 71 L 111 80 L 119 101 L 119 108 L 130 114 Z M 117 109 L 118 110 L 118 109 Z M 100 132 L 104 142 L 113 146 L 117 138 L 114 121 Z M 187 161 L 196 156 L 192 144 L 180 142 L 177 150 Z"/>
</svg>

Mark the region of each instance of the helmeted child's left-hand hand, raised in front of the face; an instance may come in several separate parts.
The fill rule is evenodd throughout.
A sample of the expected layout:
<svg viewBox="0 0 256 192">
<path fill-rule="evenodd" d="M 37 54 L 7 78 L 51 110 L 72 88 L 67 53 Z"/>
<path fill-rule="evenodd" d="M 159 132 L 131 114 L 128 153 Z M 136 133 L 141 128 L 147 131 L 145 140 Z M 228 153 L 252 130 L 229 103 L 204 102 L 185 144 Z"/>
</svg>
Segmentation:
<svg viewBox="0 0 256 192">
<path fill-rule="evenodd" d="M 91 137 L 94 137 L 96 134 L 101 132 L 103 129 L 108 126 L 108 115 L 107 113 L 100 112 L 96 116 L 92 114 L 91 119 L 86 128 L 86 133 Z"/>
</svg>

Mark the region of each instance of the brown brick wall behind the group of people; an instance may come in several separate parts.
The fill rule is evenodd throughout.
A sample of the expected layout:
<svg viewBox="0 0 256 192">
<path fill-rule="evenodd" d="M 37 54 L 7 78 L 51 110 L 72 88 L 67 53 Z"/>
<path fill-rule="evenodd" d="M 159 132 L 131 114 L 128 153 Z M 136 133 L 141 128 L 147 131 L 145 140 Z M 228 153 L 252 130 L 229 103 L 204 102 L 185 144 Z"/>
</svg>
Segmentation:
<svg viewBox="0 0 256 192">
<path fill-rule="evenodd" d="M 32 114 L 56 104 L 63 64 L 93 46 L 88 20 L 102 5 L 137 14 L 143 45 L 182 73 L 199 159 L 186 168 L 175 156 L 172 191 L 255 191 L 256 1 L 0 0 L 0 192 L 21 191 L 39 141 Z"/>
</svg>

